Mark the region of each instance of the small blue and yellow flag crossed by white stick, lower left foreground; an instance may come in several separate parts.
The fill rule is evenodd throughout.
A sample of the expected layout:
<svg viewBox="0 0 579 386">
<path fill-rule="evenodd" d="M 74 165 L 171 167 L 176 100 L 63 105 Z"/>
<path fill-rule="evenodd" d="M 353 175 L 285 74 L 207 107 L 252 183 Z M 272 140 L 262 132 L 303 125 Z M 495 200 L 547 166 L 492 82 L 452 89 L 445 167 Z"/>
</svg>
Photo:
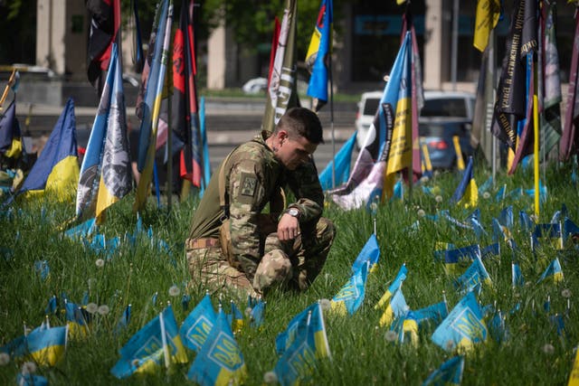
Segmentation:
<svg viewBox="0 0 579 386">
<path fill-rule="evenodd" d="M 187 362 L 173 308 L 162 313 L 134 334 L 120 350 L 120 359 L 110 372 L 117 378 L 127 378 L 135 372 L 155 372 L 158 366 L 171 362 Z"/>
</svg>

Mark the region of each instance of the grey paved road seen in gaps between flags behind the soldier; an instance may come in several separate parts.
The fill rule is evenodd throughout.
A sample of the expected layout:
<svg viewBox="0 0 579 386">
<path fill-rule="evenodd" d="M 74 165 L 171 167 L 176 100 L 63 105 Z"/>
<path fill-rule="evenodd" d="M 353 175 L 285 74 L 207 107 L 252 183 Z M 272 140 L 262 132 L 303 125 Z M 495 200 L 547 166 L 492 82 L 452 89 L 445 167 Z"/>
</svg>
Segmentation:
<svg viewBox="0 0 579 386">
<path fill-rule="evenodd" d="M 209 155 L 212 170 L 223 160 L 225 155 L 234 146 L 251 139 L 261 127 L 261 117 L 264 104 L 260 101 L 242 100 L 208 101 L 206 103 L 206 127 L 207 141 L 209 143 Z M 344 142 L 354 133 L 354 120 L 356 118 L 356 104 L 339 104 L 339 110 L 334 113 L 334 133 L 336 152 Z M 29 104 L 19 103 L 16 115 L 25 131 L 25 118 L 29 111 Z M 30 117 L 29 130 L 32 137 L 48 136 L 52 127 L 58 120 L 62 108 L 33 105 L 33 113 Z M 128 108 L 128 119 L 132 126 L 138 128 L 138 119 L 133 115 L 134 108 Z M 76 107 L 78 137 L 88 139 L 88 133 L 96 114 L 96 108 Z M 331 135 L 331 119 L 329 108 L 326 106 L 319 114 L 324 127 L 324 140 L 326 144 L 318 146 L 316 152 L 316 164 L 318 169 L 323 170 L 332 159 L 333 146 Z"/>
</svg>

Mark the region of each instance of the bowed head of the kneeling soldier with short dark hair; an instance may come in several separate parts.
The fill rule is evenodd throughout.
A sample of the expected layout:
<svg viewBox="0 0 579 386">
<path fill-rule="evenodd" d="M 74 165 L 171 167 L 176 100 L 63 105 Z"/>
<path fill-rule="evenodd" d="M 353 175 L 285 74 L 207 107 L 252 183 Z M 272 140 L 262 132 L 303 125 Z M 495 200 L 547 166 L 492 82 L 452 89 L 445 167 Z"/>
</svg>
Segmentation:
<svg viewBox="0 0 579 386">
<path fill-rule="evenodd" d="M 308 161 L 320 143 L 324 143 L 322 125 L 308 108 L 289 108 L 268 138 L 271 150 L 289 170 Z"/>
</svg>

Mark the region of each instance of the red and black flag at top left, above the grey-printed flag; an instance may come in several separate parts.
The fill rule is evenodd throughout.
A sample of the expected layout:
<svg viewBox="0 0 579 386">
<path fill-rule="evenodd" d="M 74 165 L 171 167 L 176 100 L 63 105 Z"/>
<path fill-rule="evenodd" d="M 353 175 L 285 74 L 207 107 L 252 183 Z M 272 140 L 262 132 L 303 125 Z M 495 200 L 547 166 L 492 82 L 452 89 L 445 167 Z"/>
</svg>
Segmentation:
<svg viewBox="0 0 579 386">
<path fill-rule="evenodd" d="M 104 86 L 102 74 L 109 69 L 112 42 L 119 33 L 120 0 L 87 0 L 86 5 L 91 14 L 87 75 L 100 95 Z"/>
</svg>

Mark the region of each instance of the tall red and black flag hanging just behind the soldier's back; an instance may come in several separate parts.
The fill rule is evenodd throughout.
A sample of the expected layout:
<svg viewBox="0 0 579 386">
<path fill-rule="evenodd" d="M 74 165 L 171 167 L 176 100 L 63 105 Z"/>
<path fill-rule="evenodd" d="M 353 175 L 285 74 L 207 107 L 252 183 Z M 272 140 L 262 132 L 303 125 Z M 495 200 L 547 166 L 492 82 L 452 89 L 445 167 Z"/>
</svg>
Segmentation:
<svg viewBox="0 0 579 386">
<path fill-rule="evenodd" d="M 172 100 L 173 130 L 185 146 L 180 155 L 180 175 L 197 187 L 201 187 L 202 152 L 199 107 L 195 88 L 195 34 L 193 26 L 194 1 L 181 5 L 179 26 L 173 42 Z"/>
</svg>

